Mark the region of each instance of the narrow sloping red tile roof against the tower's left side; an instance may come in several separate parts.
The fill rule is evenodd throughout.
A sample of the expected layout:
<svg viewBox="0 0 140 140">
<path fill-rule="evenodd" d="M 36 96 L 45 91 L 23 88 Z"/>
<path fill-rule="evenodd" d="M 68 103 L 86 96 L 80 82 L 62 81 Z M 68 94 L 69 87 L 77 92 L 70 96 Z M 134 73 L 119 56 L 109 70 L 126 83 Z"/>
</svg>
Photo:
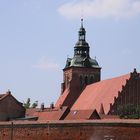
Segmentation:
<svg viewBox="0 0 140 140">
<path fill-rule="evenodd" d="M 63 104 L 63 102 L 65 101 L 65 99 L 68 96 L 68 93 L 69 93 L 68 89 L 65 89 L 65 91 L 63 92 L 63 94 L 60 95 L 59 99 L 57 100 L 57 102 L 55 104 L 55 107 L 60 107 Z"/>
</svg>

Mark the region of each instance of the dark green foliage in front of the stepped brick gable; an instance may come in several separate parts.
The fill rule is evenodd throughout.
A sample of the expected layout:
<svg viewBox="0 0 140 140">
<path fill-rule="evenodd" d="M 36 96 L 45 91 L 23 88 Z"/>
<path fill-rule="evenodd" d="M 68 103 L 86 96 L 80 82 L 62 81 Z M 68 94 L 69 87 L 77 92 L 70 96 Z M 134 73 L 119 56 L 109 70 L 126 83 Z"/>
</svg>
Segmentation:
<svg viewBox="0 0 140 140">
<path fill-rule="evenodd" d="M 123 119 L 138 119 L 140 118 L 140 106 L 127 104 L 125 106 L 118 107 L 118 114 Z"/>
</svg>

